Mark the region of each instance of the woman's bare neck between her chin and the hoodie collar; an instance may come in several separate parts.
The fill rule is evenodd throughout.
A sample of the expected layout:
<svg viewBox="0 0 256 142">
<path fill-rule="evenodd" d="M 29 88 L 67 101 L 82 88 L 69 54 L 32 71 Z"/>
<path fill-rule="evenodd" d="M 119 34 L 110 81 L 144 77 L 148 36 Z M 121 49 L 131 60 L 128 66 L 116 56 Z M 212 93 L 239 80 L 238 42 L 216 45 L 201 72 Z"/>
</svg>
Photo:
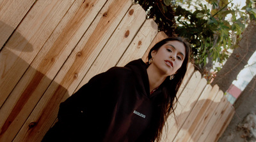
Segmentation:
<svg viewBox="0 0 256 142">
<path fill-rule="evenodd" d="M 156 69 L 156 67 L 154 66 L 148 66 L 147 73 L 148 73 L 149 89 L 150 89 L 150 92 L 152 92 L 152 90 L 156 89 L 164 82 L 166 76 L 159 73 L 158 69 Z"/>
</svg>

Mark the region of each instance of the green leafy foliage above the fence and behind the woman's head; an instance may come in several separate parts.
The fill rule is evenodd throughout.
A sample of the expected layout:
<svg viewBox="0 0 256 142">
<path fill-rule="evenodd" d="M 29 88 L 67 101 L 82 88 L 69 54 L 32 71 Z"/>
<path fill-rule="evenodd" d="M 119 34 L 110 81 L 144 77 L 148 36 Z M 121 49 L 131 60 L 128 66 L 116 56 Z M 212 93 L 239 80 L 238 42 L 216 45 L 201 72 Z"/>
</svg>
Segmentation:
<svg viewBox="0 0 256 142">
<path fill-rule="evenodd" d="M 205 69 L 208 62 L 223 64 L 227 60 L 230 55 L 228 51 L 236 48 L 245 25 L 256 17 L 253 0 L 246 0 L 246 6 L 241 10 L 230 0 L 205 0 L 206 4 L 197 0 L 135 2 L 147 11 L 148 18 L 154 18 L 159 31 L 164 31 L 168 36 L 189 39 L 193 53 L 191 60 L 201 73 L 208 72 L 205 74 L 209 74 L 209 69 Z M 193 10 L 189 10 L 191 7 L 194 7 Z M 220 69 L 216 67 L 214 73 Z M 207 76 L 211 80 L 212 75 Z"/>
</svg>

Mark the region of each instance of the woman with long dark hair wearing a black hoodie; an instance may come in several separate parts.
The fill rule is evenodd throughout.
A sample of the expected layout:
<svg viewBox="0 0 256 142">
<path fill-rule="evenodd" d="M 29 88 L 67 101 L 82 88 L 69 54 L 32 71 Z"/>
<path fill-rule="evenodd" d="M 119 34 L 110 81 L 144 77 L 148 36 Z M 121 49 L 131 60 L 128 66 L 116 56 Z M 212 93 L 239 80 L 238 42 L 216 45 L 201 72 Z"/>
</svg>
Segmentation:
<svg viewBox="0 0 256 142">
<path fill-rule="evenodd" d="M 94 76 L 60 104 L 43 141 L 159 141 L 186 73 L 189 44 L 166 38 L 141 59 Z"/>
</svg>

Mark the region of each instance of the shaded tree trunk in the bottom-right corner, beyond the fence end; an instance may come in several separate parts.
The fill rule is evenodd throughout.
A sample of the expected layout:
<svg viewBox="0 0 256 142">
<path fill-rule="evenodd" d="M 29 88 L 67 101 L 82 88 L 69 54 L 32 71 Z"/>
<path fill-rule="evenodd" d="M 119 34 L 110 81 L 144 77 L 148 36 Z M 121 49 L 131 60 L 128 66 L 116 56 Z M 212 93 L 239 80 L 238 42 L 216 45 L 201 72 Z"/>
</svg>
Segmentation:
<svg viewBox="0 0 256 142">
<path fill-rule="evenodd" d="M 236 114 L 218 142 L 256 141 L 256 75 L 234 103 Z M 254 128 L 253 128 L 254 127 Z M 253 134 L 254 133 L 254 134 Z"/>
</svg>

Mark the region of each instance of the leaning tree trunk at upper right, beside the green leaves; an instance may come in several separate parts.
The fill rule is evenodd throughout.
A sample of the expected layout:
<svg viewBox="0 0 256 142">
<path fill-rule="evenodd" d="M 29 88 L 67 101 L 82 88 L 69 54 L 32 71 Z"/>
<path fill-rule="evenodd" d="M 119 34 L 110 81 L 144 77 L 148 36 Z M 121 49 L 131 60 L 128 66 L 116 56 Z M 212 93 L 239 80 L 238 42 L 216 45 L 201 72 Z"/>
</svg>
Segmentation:
<svg viewBox="0 0 256 142">
<path fill-rule="evenodd" d="M 217 84 L 225 92 L 231 83 L 236 80 L 238 73 L 244 68 L 256 50 L 256 23 L 252 20 L 243 32 L 243 38 L 234 49 L 225 65 L 217 73 L 211 85 Z"/>
</svg>

